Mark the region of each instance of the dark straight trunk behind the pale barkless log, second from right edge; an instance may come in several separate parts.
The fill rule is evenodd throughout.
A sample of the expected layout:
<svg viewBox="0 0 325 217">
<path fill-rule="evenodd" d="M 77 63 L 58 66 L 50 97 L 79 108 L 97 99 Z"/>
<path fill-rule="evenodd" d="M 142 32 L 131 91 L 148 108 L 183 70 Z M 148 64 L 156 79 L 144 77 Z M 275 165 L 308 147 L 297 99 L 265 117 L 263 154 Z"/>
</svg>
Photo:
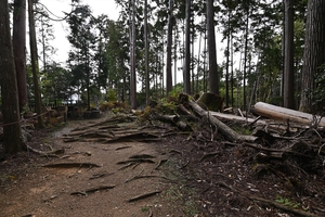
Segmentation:
<svg viewBox="0 0 325 217">
<path fill-rule="evenodd" d="M 284 106 L 295 108 L 294 0 L 285 0 Z"/>
</svg>

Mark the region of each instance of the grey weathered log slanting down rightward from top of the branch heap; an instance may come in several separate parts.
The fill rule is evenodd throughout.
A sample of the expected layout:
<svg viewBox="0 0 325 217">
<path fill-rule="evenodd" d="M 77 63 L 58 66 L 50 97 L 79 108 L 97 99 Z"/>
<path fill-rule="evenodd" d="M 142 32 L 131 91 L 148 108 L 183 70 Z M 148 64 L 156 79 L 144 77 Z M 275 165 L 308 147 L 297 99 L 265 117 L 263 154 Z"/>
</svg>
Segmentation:
<svg viewBox="0 0 325 217">
<path fill-rule="evenodd" d="M 184 93 L 183 93 L 184 94 Z M 247 141 L 247 142 L 255 142 L 258 138 L 253 136 L 244 136 L 238 135 L 232 128 L 217 119 L 211 115 L 210 112 L 202 108 L 196 102 L 188 99 L 188 105 L 195 111 L 198 115 L 207 118 L 212 125 L 217 126 L 218 130 L 230 141 Z"/>
</svg>

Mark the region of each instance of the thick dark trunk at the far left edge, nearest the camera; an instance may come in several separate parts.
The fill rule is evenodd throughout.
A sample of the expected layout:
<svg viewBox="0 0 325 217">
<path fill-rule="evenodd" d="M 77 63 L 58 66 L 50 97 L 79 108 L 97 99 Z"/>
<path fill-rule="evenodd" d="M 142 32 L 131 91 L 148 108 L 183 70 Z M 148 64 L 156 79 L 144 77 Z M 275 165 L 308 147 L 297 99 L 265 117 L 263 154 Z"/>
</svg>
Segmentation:
<svg viewBox="0 0 325 217">
<path fill-rule="evenodd" d="M 23 145 L 16 71 L 10 35 L 8 0 L 0 0 L 0 80 L 4 151 L 15 154 Z"/>
</svg>

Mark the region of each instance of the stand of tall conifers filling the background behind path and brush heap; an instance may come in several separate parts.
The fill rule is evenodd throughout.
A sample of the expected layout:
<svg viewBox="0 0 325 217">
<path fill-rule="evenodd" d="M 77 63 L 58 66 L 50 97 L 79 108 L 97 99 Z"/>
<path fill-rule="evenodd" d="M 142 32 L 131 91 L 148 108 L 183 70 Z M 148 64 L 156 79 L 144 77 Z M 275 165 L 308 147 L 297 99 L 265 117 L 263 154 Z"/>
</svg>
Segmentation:
<svg viewBox="0 0 325 217">
<path fill-rule="evenodd" d="M 64 64 L 51 58 L 58 20 L 51 9 L 41 1 L 1 2 L 4 125 L 26 110 L 41 114 L 44 104 L 77 101 L 90 110 L 114 99 L 136 108 L 180 92 L 216 93 L 224 107 L 244 111 L 259 101 L 323 111 L 323 1 L 116 1 L 121 12 L 112 21 L 73 0 L 62 17 L 72 46 Z M 43 125 L 41 116 L 38 122 Z M 18 131 L 4 127 L 4 144 L 13 135 L 22 143 Z"/>
</svg>

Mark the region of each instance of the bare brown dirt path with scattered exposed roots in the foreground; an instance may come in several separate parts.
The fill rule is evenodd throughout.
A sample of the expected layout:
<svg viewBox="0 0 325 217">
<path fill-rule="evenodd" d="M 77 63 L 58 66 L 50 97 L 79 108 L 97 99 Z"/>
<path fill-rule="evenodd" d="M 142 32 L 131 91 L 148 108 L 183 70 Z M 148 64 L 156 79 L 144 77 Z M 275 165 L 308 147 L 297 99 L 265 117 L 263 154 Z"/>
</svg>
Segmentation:
<svg viewBox="0 0 325 217">
<path fill-rule="evenodd" d="M 44 158 L 37 166 L 32 166 L 35 162 L 29 158 L 29 162 L 21 165 L 26 169 L 21 171 L 23 176 L 11 177 L 13 184 L 0 193 L 0 216 L 184 215 L 178 208 L 177 204 L 180 203 L 177 196 L 171 195 L 178 186 L 165 171 L 157 169 L 159 162 L 167 157 L 160 148 L 139 142 L 64 143 L 62 135 L 70 129 L 66 127 L 46 141 L 55 149 L 65 148 L 62 158 Z M 44 143 L 36 148 L 43 146 Z M 145 157 L 147 161 L 122 164 L 130 157 Z M 1 166 L 6 163 L 3 162 Z M 67 168 L 43 167 L 49 163 L 92 163 L 100 167 L 86 164 Z M 145 194 L 152 195 L 135 200 Z M 132 199 L 135 201 L 128 202 Z"/>
</svg>

